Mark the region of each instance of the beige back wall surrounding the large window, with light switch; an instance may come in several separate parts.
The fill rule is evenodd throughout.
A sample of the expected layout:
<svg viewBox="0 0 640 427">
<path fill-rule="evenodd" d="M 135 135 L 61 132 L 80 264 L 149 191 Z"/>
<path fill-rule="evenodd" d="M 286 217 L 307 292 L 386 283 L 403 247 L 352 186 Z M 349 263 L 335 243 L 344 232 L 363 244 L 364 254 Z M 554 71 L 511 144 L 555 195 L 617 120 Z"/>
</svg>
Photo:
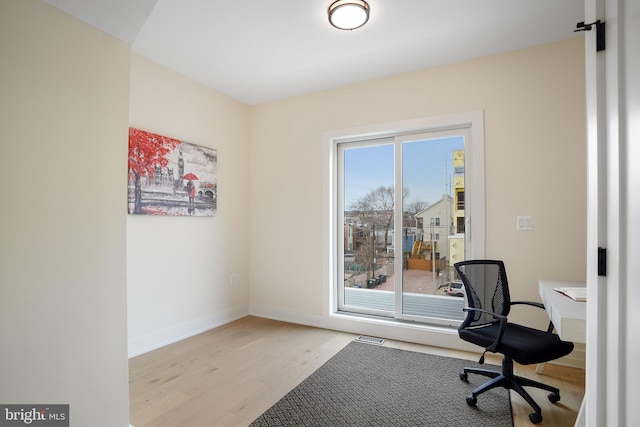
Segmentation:
<svg viewBox="0 0 640 427">
<path fill-rule="evenodd" d="M 515 299 L 539 299 L 539 278 L 583 280 L 583 50 L 575 38 L 253 107 L 252 311 L 332 325 L 324 132 L 474 110 L 485 120 L 486 256 L 506 262 Z M 533 231 L 516 231 L 518 215 Z"/>
</svg>

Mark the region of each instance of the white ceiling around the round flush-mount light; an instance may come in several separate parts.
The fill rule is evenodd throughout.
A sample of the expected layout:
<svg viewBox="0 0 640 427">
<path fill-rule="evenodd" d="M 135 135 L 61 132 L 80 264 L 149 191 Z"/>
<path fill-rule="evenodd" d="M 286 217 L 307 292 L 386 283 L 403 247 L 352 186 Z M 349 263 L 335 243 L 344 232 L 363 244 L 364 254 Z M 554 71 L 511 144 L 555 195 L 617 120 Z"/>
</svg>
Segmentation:
<svg viewBox="0 0 640 427">
<path fill-rule="evenodd" d="M 579 36 L 584 0 L 44 0 L 249 105 Z"/>
</svg>

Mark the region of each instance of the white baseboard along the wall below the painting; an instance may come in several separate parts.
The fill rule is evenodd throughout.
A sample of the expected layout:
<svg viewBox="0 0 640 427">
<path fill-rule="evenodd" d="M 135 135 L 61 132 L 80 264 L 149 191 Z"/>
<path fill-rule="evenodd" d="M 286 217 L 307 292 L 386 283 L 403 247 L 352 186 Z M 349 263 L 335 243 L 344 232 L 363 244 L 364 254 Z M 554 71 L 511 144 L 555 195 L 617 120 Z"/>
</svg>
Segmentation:
<svg viewBox="0 0 640 427">
<path fill-rule="evenodd" d="M 129 358 L 139 356 L 164 347 L 185 338 L 217 328 L 249 315 L 249 307 L 243 306 L 222 313 L 215 313 L 198 319 L 183 322 L 169 328 L 157 330 L 146 335 L 129 338 Z"/>
</svg>

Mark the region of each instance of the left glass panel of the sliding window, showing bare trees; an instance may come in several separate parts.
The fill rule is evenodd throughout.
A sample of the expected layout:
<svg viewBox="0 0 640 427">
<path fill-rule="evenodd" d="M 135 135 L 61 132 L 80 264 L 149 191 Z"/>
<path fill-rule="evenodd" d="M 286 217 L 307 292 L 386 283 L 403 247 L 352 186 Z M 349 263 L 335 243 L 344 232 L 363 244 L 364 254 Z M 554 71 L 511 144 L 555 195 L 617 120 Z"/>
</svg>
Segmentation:
<svg viewBox="0 0 640 427">
<path fill-rule="evenodd" d="M 395 311 L 394 142 L 341 147 L 343 286 L 347 311 L 393 316 Z"/>
</svg>

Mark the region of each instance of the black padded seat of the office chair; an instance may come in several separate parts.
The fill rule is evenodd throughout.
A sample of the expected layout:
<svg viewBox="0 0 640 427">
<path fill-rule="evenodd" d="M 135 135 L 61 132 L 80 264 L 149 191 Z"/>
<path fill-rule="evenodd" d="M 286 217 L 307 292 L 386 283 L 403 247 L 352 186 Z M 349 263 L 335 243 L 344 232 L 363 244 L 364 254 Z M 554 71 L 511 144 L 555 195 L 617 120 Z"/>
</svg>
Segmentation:
<svg viewBox="0 0 640 427">
<path fill-rule="evenodd" d="M 460 338 L 481 347 L 489 347 L 498 333 L 498 324 L 474 329 L 462 329 Z M 573 351 L 573 343 L 562 341 L 556 334 L 507 323 L 496 353 L 513 359 L 521 365 L 545 363 L 566 356 Z"/>
</svg>

